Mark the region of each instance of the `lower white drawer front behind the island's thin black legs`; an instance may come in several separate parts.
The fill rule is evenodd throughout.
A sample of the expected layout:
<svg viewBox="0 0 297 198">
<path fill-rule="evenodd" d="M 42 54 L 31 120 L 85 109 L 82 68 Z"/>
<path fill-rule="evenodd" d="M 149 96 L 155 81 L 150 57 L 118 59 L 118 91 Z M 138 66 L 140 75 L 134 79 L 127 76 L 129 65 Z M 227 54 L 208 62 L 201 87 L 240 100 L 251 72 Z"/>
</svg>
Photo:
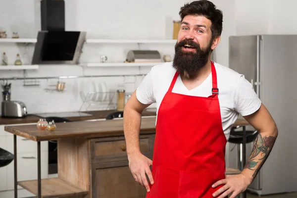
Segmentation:
<svg viewBox="0 0 297 198">
<path fill-rule="evenodd" d="M 7 165 L 7 190 L 13 190 L 14 166 Z M 48 152 L 41 152 L 41 179 L 48 178 Z M 17 181 L 37 180 L 37 153 L 17 154 Z M 18 186 L 21 189 L 20 186 Z"/>
</svg>

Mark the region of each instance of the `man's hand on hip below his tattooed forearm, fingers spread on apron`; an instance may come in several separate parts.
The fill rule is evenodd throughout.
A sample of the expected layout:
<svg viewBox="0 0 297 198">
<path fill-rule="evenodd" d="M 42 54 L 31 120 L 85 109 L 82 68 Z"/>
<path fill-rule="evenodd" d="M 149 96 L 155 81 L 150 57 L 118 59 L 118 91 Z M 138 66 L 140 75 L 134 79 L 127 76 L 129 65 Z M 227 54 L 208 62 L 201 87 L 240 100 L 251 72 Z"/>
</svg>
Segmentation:
<svg viewBox="0 0 297 198">
<path fill-rule="evenodd" d="M 226 175 L 226 179 L 217 181 L 212 185 L 212 188 L 215 188 L 222 184 L 224 186 L 217 190 L 212 195 L 213 197 L 216 197 L 223 193 L 218 198 L 225 198 L 230 194 L 232 194 L 230 198 L 235 198 L 237 195 L 241 194 L 247 189 L 248 185 L 250 184 L 250 180 L 244 174 Z"/>
</svg>

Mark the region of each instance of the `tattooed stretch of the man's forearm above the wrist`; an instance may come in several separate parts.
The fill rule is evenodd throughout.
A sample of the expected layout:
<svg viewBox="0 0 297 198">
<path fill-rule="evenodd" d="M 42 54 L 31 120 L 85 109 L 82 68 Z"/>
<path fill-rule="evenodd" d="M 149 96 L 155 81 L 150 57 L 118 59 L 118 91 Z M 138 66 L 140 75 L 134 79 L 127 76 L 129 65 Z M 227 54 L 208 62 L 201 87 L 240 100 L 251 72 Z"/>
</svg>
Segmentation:
<svg viewBox="0 0 297 198">
<path fill-rule="evenodd" d="M 251 150 L 250 157 L 247 161 L 247 164 L 244 169 L 253 170 L 254 173 L 252 177 L 254 178 L 258 171 L 260 170 L 261 166 L 267 159 L 276 137 L 274 136 L 261 136 L 259 134 L 254 142 L 253 148 Z"/>
</svg>

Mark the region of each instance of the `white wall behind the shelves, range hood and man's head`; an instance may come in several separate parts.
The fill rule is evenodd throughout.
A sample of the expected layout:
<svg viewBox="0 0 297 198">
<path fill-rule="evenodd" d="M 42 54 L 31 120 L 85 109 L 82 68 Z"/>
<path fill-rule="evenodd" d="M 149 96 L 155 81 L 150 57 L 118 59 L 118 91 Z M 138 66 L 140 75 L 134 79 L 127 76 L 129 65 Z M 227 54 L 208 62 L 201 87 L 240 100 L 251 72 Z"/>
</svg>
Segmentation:
<svg viewBox="0 0 297 198">
<path fill-rule="evenodd" d="M 280 20 L 275 20 L 274 10 L 278 6 L 275 1 L 243 0 L 211 0 L 224 14 L 223 33 L 221 43 L 216 49 L 217 62 L 228 66 L 229 50 L 228 38 L 236 34 L 255 33 L 283 33 L 276 30 Z M 100 39 L 171 39 L 172 20 L 179 19 L 179 9 L 188 0 L 129 0 L 129 1 L 98 1 L 98 0 L 65 0 L 65 27 L 66 30 L 86 31 L 88 38 Z M 292 6 L 294 7 L 294 6 Z M 266 10 L 266 11 L 263 11 Z M 279 10 L 279 9 L 278 9 Z M 251 18 L 251 11 L 253 12 Z M 278 13 L 285 13 L 279 10 Z M 291 14 L 291 15 L 290 15 Z M 292 18 L 294 12 L 286 12 L 286 18 Z M 17 31 L 20 37 L 36 38 L 41 28 L 39 0 L 5 0 L 1 2 L 0 29 L 6 30 L 8 37 Z M 285 23 L 286 27 L 290 24 Z M 256 30 L 256 31 L 255 31 Z M 273 31 L 274 30 L 274 31 Z M 286 31 L 294 33 L 295 29 Z M 34 45 L 0 44 L 0 53 L 5 51 L 8 61 L 13 64 L 16 53 L 20 53 L 23 64 L 30 64 Z M 131 49 L 156 49 L 161 55 L 169 53 L 173 56 L 174 44 L 85 44 L 81 62 L 97 62 L 100 55 L 106 55 L 108 61 L 124 61 Z M 80 66 L 41 66 L 39 70 L 28 71 L 27 76 L 60 76 L 60 75 L 122 75 L 148 73 L 150 67 L 112 67 L 112 68 L 82 68 Z M 23 71 L 0 71 L 0 78 L 21 77 Z M 23 87 L 22 81 L 11 81 L 12 99 L 25 102 L 29 113 L 61 112 L 79 110 L 82 105 L 79 89 L 82 81 L 88 79 L 65 80 L 67 92 L 47 93 L 44 89 L 47 83 L 55 84 L 57 80 L 42 80 L 39 87 Z M 123 81 L 122 77 L 92 78 L 97 83 L 105 81 L 108 88 L 114 91 Z M 131 80 L 131 79 L 129 79 Z M 133 79 L 132 79 L 133 80 Z M 137 88 L 141 79 L 135 85 L 127 84 L 125 89 L 132 92 Z M 105 105 L 96 105 L 94 108 L 104 108 Z"/>
</svg>

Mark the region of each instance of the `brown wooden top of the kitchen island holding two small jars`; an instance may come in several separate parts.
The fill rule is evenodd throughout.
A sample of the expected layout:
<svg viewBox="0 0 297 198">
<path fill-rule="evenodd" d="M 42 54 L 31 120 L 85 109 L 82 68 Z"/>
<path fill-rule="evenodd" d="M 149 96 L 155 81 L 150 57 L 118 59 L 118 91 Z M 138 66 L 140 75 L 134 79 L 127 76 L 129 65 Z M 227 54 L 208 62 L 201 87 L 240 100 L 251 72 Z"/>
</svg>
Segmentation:
<svg viewBox="0 0 297 198">
<path fill-rule="evenodd" d="M 154 133 L 156 118 L 142 118 L 140 133 Z M 237 120 L 234 126 L 247 126 L 245 120 Z M 36 125 L 5 126 L 4 130 L 33 141 L 49 141 L 61 138 L 99 138 L 121 136 L 123 132 L 123 120 L 103 120 L 90 122 L 66 122 L 56 123 L 55 131 L 40 131 Z"/>
</svg>

